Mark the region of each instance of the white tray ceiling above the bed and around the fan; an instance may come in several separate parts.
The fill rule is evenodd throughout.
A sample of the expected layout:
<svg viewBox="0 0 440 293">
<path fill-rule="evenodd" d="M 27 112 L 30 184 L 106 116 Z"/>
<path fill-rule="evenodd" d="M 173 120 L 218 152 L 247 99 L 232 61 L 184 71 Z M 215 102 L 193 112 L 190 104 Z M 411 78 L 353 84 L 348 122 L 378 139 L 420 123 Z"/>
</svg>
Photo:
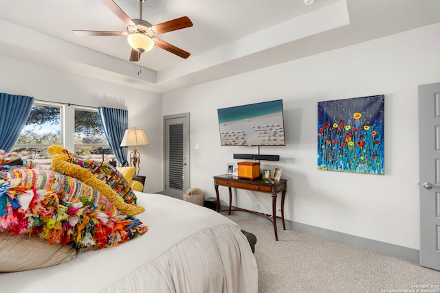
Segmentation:
<svg viewBox="0 0 440 293">
<path fill-rule="evenodd" d="M 132 19 L 137 0 L 114 0 Z M 161 34 L 190 52 L 154 47 L 129 62 L 125 37 L 72 30 L 126 31 L 100 0 L 0 0 L 0 54 L 72 73 L 165 93 L 440 22 L 439 0 L 146 0 L 155 25 L 188 16 L 192 27 Z M 142 72 L 140 72 L 142 69 Z"/>
</svg>

